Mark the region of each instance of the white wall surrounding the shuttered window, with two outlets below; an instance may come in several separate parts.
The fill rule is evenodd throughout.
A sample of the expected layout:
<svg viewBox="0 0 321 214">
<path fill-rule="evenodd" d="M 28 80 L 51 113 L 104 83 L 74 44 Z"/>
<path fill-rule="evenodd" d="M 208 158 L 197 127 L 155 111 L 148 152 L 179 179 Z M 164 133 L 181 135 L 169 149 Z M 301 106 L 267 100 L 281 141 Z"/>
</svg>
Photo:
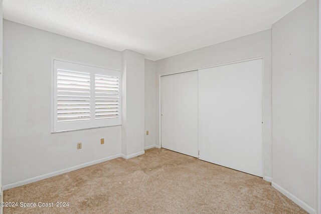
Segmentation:
<svg viewBox="0 0 321 214">
<path fill-rule="evenodd" d="M 5 20 L 4 185 L 121 153 L 121 126 L 50 133 L 53 57 L 121 70 L 121 52 Z"/>
</svg>

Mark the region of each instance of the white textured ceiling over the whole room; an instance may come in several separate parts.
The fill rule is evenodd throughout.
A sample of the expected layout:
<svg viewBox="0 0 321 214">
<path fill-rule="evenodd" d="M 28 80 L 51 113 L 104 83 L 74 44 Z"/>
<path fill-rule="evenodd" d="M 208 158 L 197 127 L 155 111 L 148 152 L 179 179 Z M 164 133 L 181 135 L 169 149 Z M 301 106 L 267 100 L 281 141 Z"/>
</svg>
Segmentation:
<svg viewBox="0 0 321 214">
<path fill-rule="evenodd" d="M 271 28 L 305 0 L 3 0 L 4 19 L 158 60 Z"/>
</svg>

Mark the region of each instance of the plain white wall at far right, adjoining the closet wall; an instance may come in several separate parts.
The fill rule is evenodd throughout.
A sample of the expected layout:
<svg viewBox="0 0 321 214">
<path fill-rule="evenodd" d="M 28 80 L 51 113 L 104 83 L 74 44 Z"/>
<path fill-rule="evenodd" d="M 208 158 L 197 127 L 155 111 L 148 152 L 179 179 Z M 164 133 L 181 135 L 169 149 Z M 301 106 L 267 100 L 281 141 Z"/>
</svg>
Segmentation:
<svg viewBox="0 0 321 214">
<path fill-rule="evenodd" d="M 317 0 L 272 26 L 272 185 L 309 212 L 316 209 Z"/>
</svg>

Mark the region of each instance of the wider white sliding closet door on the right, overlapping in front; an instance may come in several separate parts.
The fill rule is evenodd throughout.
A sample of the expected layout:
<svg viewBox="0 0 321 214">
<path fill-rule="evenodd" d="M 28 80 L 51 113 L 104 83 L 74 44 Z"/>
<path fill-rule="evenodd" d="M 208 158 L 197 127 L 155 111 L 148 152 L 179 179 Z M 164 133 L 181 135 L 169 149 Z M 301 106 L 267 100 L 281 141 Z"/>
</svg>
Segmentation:
<svg viewBox="0 0 321 214">
<path fill-rule="evenodd" d="M 199 70 L 200 159 L 262 177 L 262 59 Z"/>
</svg>

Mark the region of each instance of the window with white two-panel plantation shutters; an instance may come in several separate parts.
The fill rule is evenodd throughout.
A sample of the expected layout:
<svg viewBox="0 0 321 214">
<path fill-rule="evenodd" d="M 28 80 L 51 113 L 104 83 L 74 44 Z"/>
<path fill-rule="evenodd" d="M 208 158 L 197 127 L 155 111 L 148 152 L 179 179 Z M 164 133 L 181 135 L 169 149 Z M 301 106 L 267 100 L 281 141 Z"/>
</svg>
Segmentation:
<svg viewBox="0 0 321 214">
<path fill-rule="evenodd" d="M 120 125 L 120 75 L 54 60 L 53 132 Z"/>
</svg>

